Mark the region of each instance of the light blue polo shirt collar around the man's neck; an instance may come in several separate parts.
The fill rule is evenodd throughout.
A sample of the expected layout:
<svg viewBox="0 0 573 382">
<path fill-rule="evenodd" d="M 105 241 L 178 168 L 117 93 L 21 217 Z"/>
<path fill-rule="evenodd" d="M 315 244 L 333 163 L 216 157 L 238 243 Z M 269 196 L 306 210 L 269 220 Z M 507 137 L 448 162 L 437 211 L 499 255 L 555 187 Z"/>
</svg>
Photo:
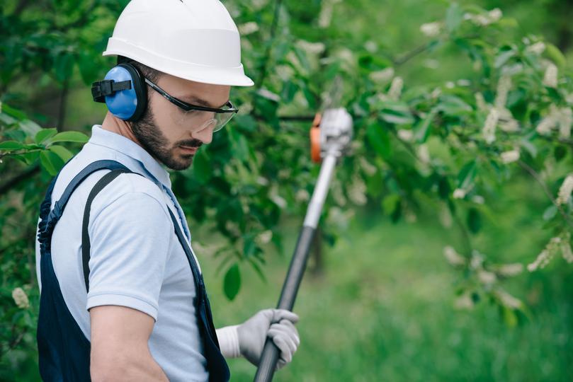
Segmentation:
<svg viewBox="0 0 573 382">
<path fill-rule="evenodd" d="M 120 154 L 135 159 L 135 161 L 141 163 L 142 167 L 144 170 L 147 170 L 149 175 L 152 175 L 152 177 L 159 180 L 162 185 L 171 189 L 169 173 L 164 166 L 161 166 L 161 163 L 145 151 L 142 146 L 136 144 L 131 139 L 123 137 L 123 135 L 116 134 L 115 132 L 104 130 L 101 125 L 93 125 L 91 128 L 91 138 L 89 139 L 89 143 L 108 147 L 109 149 L 120 152 Z"/>
</svg>

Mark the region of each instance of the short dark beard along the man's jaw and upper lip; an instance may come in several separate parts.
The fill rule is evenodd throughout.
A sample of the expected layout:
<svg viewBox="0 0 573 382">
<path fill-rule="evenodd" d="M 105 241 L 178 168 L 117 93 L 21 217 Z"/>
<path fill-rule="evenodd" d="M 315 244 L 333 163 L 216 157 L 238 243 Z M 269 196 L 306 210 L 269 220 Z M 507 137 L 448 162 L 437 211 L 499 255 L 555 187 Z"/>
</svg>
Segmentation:
<svg viewBox="0 0 573 382">
<path fill-rule="evenodd" d="M 187 139 L 170 145 L 157 127 L 149 106 L 140 120 L 132 122 L 131 129 L 143 148 L 171 170 L 185 170 L 193 163 L 193 154 L 177 154 L 175 152 L 178 146 L 199 147 L 203 144 L 199 139 Z"/>
</svg>

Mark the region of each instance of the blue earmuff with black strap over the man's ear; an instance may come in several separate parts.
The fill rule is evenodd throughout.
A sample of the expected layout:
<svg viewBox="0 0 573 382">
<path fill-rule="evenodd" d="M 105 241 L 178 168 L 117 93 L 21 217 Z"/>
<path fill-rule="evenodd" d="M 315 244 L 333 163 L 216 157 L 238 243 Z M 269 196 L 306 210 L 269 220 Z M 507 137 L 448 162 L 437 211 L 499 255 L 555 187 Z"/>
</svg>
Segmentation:
<svg viewBox="0 0 573 382">
<path fill-rule="evenodd" d="M 147 108 L 147 86 L 135 66 L 129 63 L 113 67 L 103 81 L 91 85 L 91 96 L 105 103 L 108 110 L 121 120 L 134 122 Z"/>
</svg>

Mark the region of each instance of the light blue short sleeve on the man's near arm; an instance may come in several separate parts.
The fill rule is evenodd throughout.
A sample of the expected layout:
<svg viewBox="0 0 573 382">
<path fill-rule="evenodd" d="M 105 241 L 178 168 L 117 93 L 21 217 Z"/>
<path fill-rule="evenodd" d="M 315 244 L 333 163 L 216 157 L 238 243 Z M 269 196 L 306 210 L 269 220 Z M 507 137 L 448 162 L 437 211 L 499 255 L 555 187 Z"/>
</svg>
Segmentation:
<svg viewBox="0 0 573 382">
<path fill-rule="evenodd" d="M 93 217 L 87 309 L 127 306 L 157 320 L 173 229 L 165 208 L 147 193 L 127 192 Z"/>
</svg>

